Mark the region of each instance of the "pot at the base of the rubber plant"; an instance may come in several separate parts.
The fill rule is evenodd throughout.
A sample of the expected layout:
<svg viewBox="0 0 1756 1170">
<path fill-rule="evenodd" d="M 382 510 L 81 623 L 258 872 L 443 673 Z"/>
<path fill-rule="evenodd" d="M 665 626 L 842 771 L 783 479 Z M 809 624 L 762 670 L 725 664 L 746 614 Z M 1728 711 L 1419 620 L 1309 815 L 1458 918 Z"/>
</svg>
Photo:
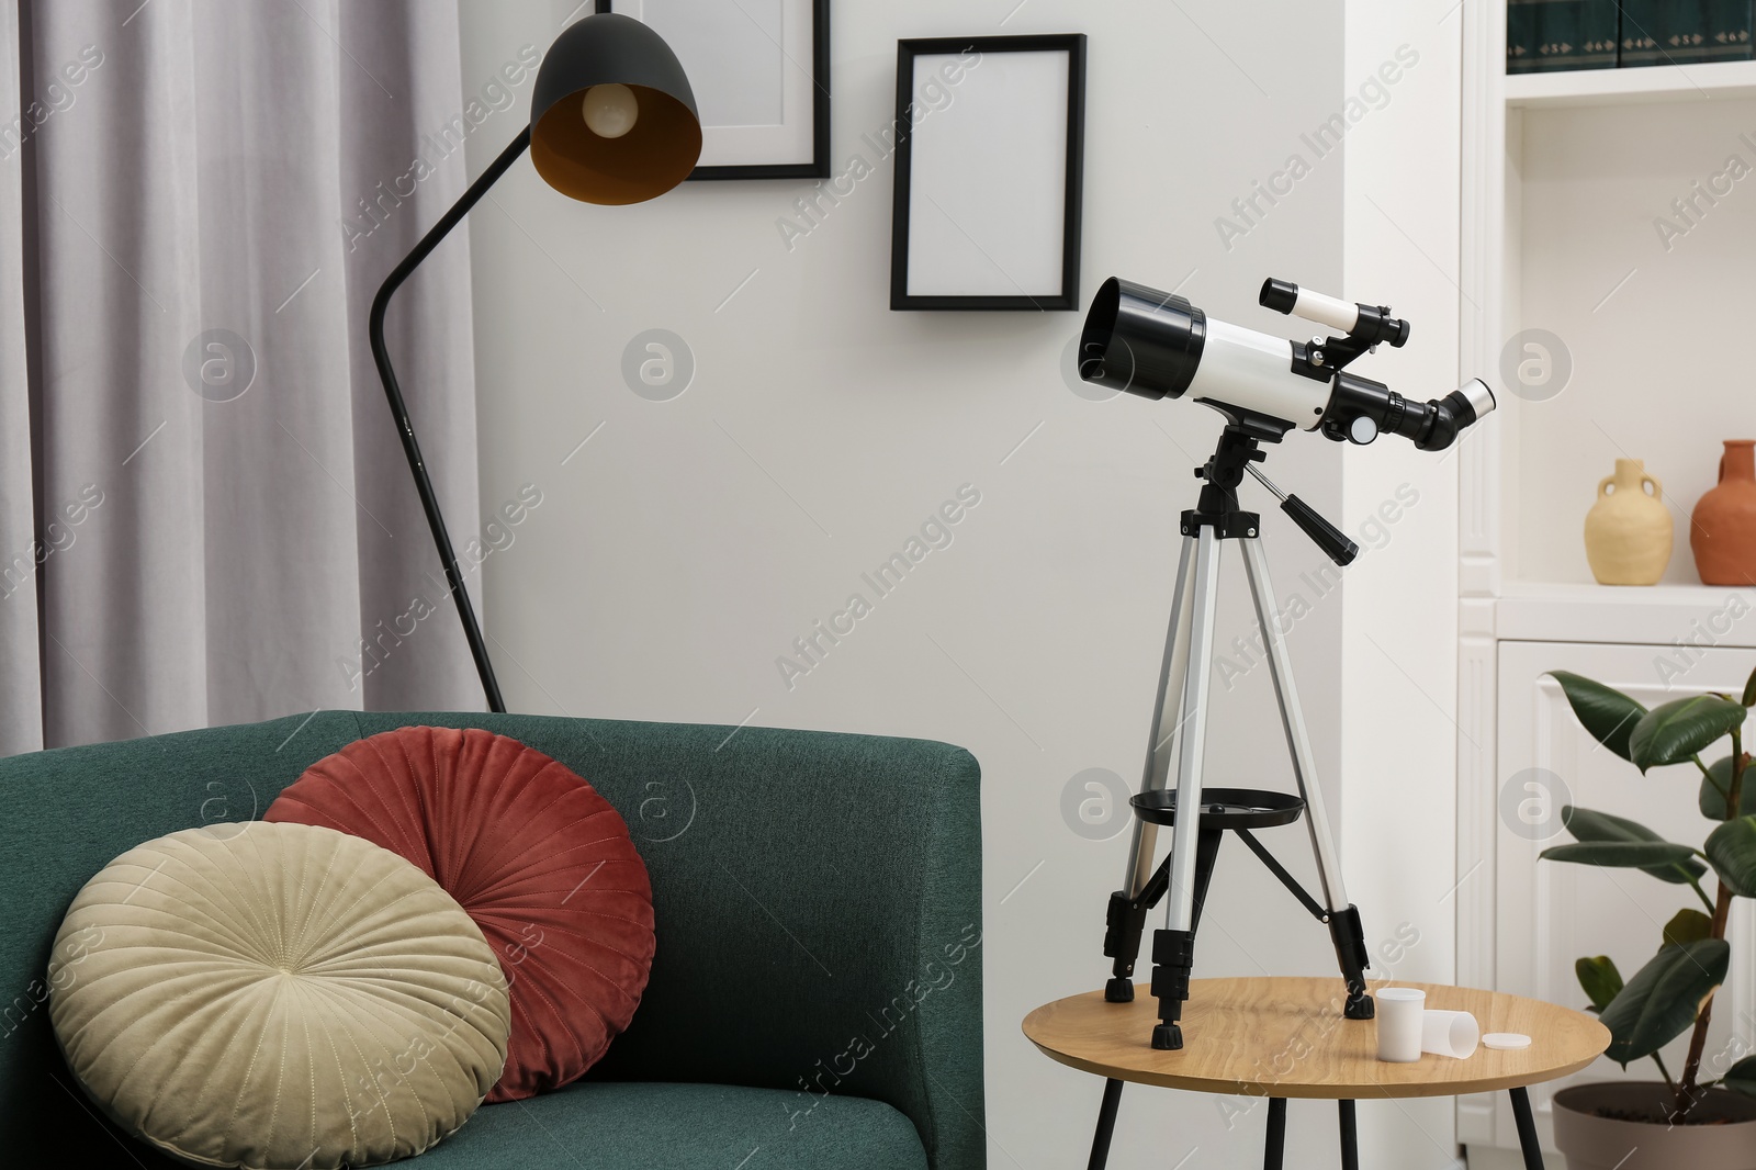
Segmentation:
<svg viewBox="0 0 1756 1170">
<path fill-rule="evenodd" d="M 1556 1093 L 1554 1144 L 1566 1170 L 1756 1170 L 1756 1098 L 1709 1089 L 1693 1117 L 1714 1124 L 1688 1126 L 1665 1124 L 1670 1100 L 1658 1080 L 1600 1080 Z"/>
</svg>

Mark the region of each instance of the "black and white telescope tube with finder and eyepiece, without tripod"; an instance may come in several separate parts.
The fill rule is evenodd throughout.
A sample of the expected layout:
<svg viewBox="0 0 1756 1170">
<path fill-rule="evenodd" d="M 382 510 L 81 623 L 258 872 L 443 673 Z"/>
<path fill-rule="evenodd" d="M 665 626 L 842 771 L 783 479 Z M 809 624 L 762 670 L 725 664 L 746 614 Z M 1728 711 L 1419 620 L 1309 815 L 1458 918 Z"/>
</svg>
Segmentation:
<svg viewBox="0 0 1756 1170">
<path fill-rule="evenodd" d="M 1184 297 L 1110 278 L 1092 299 L 1080 334 L 1080 378 L 1148 399 L 1212 406 L 1233 427 L 1278 443 L 1289 430 L 1321 430 L 1366 444 L 1400 434 L 1422 451 L 1442 451 L 1494 409 L 1494 394 L 1472 378 L 1443 399 L 1412 402 L 1347 365 L 1389 343 L 1408 341 L 1408 321 L 1389 306 L 1326 297 L 1266 279 L 1261 304 L 1340 336 L 1287 341 L 1210 318 Z"/>
</svg>

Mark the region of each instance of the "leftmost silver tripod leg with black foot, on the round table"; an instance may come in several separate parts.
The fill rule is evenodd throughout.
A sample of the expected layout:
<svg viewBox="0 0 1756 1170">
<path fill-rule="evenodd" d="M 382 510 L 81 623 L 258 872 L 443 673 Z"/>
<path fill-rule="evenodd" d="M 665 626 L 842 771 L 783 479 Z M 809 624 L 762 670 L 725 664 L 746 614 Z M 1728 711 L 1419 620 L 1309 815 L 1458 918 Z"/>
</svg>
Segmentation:
<svg viewBox="0 0 1756 1170">
<path fill-rule="evenodd" d="M 1189 569 L 1194 564 L 1194 538 L 1184 538 L 1184 552 L 1177 559 L 1177 590 L 1171 599 L 1171 625 L 1164 634 L 1164 662 L 1159 668 L 1159 692 L 1152 704 L 1152 736 L 1147 740 L 1147 764 L 1140 778 L 1141 792 L 1157 792 L 1169 780 L 1171 738 L 1177 726 L 1164 729 L 1164 711 L 1177 711 L 1182 699 L 1184 662 L 1187 657 L 1187 620 L 1184 608 L 1189 603 Z M 1110 966 L 1110 982 L 1103 998 L 1110 1003 L 1131 1003 L 1134 1000 L 1134 961 L 1140 957 L 1140 936 L 1147 929 L 1147 912 L 1152 899 L 1145 898 L 1147 880 L 1152 877 L 1152 854 L 1159 843 L 1159 826 L 1141 820 L 1129 812 L 1134 822 L 1133 838 L 1127 847 L 1127 870 L 1122 873 L 1122 889 L 1110 894 L 1110 912 L 1103 952 L 1115 959 Z"/>
</svg>

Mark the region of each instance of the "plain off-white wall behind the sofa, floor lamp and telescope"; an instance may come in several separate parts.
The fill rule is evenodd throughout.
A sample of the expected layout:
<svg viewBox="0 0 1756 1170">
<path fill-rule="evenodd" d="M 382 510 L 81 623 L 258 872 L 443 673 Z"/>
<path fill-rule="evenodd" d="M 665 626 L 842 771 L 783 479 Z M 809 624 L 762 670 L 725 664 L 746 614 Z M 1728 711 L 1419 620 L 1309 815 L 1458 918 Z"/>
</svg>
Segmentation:
<svg viewBox="0 0 1756 1170">
<path fill-rule="evenodd" d="M 464 76 L 486 81 L 520 46 L 546 47 L 574 0 L 460 7 Z M 860 135 L 890 121 L 899 37 L 1085 32 L 1082 299 L 1122 274 L 1180 288 L 1215 316 L 1303 336 L 1256 307 L 1270 274 L 1343 285 L 1343 155 L 1319 158 L 1301 135 L 1343 112 L 1366 58 L 1375 67 L 1396 46 L 1396 37 L 1384 49 L 1361 42 L 1356 60 L 1350 42 L 1343 67 L 1340 18 L 1342 5 L 1305 0 L 841 0 L 836 170 L 855 151 L 878 162 Z M 1447 65 L 1442 53 L 1422 61 L 1412 77 L 1426 93 Z M 1403 93 L 1361 125 L 1429 107 Z M 472 137 L 472 172 L 516 130 L 529 84 L 518 100 Z M 1294 153 L 1310 174 L 1227 248 L 1215 220 Z M 523 483 L 544 502 L 486 562 L 486 620 L 515 710 L 748 719 L 971 748 L 983 768 L 990 1161 L 1080 1165 L 1099 1082 L 1036 1054 L 1018 1021 L 1106 975 L 1103 908 L 1126 838 L 1076 834 L 1062 792 L 1087 768 L 1134 784 L 1177 516 L 1192 504 L 1191 467 L 1212 448 L 1219 418 L 1187 404 L 1075 395 L 1061 364 L 1076 313 L 890 313 L 890 183 L 883 162 L 788 249 L 776 221 L 794 214 L 808 183 L 685 184 L 651 204 L 599 209 L 543 186 L 529 162 L 502 179 L 471 220 L 483 502 L 511 499 Z M 1361 274 L 1357 288 L 1349 272 L 1347 295 L 1410 297 L 1398 304 L 1417 318 L 1422 343 L 1452 329 L 1426 285 L 1405 292 L 1407 265 Z M 688 392 L 669 402 L 637 397 L 618 369 L 629 339 L 655 327 L 685 337 L 697 362 Z M 1429 385 L 1449 388 L 1438 381 L 1422 376 L 1421 397 Z M 1342 453 L 1322 441 L 1289 441 L 1270 473 L 1352 532 L 1382 501 L 1375 483 L 1352 480 L 1343 499 Z M 952 546 L 931 553 L 788 690 L 776 657 L 964 483 L 982 502 Z M 1450 504 L 1435 492 L 1368 557 L 1382 580 L 1442 543 L 1405 536 L 1443 527 Z M 1317 597 L 1301 574 L 1326 564 L 1321 553 L 1271 499 L 1254 499 L 1268 513 L 1282 603 L 1292 592 L 1313 603 L 1291 643 L 1331 815 L 1349 836 L 1373 833 L 1378 820 L 1354 817 L 1338 785 L 1342 620 L 1354 603 L 1342 590 Z M 1241 590 L 1233 564 L 1222 645 L 1250 627 Z M 1356 673 L 1359 654 L 1373 650 L 1349 643 Z M 1289 784 L 1266 669 L 1219 689 L 1212 731 L 1213 782 Z M 1426 782 L 1407 771 L 1385 775 L 1385 789 Z M 1301 831 L 1273 843 L 1296 873 L 1312 875 Z M 1350 864 L 1350 877 L 1368 935 L 1387 938 L 1403 910 L 1373 905 L 1382 891 L 1366 880 L 1377 870 Z M 1199 975 L 1333 971 L 1322 928 L 1243 850 L 1220 861 L 1217 887 Z M 1426 954 L 1449 945 L 1449 931 L 1436 933 L 1445 942 Z M 1199 1151 L 1191 1166 L 1259 1165 L 1264 1112 L 1227 1131 L 1210 1098 L 1131 1089 L 1113 1165 L 1178 1165 L 1191 1151 Z M 1335 1165 L 1333 1109 L 1294 1103 L 1292 1124 L 1329 1159 L 1310 1165 Z M 1403 1147 L 1396 1165 L 1445 1165 L 1426 1137 Z"/>
</svg>

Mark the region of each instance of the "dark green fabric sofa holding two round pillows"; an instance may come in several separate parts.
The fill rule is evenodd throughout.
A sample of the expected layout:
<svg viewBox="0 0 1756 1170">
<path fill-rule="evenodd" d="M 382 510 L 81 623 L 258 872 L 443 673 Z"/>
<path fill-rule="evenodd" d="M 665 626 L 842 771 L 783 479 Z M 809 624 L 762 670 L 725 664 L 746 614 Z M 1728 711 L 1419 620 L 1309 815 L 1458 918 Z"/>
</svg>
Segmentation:
<svg viewBox="0 0 1756 1170">
<path fill-rule="evenodd" d="M 323 711 L 0 759 L 0 1161 L 169 1166 L 100 1123 L 44 975 L 125 849 L 260 817 L 392 727 L 486 727 L 627 819 L 658 956 L 634 1024 L 567 1089 L 488 1105 L 430 1170 L 966 1170 L 985 1165 L 978 769 L 920 740 L 530 715 Z"/>
</svg>

